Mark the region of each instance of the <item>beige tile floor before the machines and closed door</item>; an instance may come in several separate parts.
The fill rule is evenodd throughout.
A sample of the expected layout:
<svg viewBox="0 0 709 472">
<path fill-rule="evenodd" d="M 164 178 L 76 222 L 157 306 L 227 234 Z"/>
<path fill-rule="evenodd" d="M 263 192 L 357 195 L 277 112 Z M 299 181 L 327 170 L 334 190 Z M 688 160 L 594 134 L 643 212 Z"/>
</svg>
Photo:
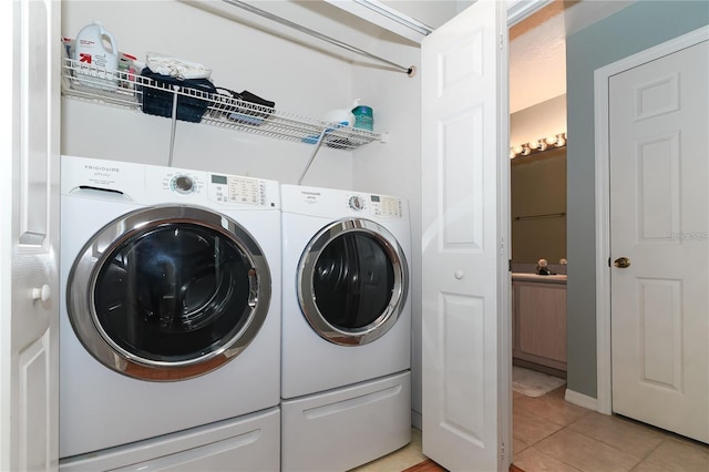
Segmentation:
<svg viewBox="0 0 709 472">
<path fill-rule="evenodd" d="M 709 447 L 564 400 L 566 386 L 531 398 L 513 392 L 514 464 L 525 472 L 709 472 Z M 399 472 L 427 458 L 411 444 L 356 472 Z"/>
</svg>

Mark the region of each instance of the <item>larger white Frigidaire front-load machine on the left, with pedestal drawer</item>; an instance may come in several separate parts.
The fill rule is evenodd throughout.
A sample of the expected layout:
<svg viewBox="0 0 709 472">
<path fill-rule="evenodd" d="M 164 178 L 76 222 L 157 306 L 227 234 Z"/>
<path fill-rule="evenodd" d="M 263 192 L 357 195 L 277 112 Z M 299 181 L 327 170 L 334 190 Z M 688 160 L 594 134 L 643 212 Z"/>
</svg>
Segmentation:
<svg viewBox="0 0 709 472">
<path fill-rule="evenodd" d="M 60 468 L 277 470 L 278 183 L 61 164 Z"/>
</svg>

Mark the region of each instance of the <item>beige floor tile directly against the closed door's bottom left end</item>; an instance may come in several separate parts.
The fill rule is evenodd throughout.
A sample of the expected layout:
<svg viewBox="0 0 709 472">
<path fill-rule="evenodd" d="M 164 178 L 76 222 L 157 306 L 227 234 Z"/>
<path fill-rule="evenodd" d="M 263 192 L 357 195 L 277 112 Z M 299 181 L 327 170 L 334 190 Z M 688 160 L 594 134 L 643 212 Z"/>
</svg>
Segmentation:
<svg viewBox="0 0 709 472">
<path fill-rule="evenodd" d="M 568 428 L 639 459 L 647 456 L 667 438 L 651 428 L 595 411 L 574 421 Z"/>
</svg>

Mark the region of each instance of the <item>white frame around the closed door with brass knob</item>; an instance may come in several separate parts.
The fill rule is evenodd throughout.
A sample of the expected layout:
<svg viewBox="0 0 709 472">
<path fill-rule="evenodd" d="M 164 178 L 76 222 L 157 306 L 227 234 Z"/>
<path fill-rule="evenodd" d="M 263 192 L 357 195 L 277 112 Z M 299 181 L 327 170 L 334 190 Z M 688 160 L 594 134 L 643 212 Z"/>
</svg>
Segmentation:
<svg viewBox="0 0 709 472">
<path fill-rule="evenodd" d="M 608 150 L 608 81 L 610 76 L 709 40 L 709 25 L 648 48 L 594 72 L 596 191 L 596 404 L 613 413 L 610 355 L 610 155 Z"/>
</svg>

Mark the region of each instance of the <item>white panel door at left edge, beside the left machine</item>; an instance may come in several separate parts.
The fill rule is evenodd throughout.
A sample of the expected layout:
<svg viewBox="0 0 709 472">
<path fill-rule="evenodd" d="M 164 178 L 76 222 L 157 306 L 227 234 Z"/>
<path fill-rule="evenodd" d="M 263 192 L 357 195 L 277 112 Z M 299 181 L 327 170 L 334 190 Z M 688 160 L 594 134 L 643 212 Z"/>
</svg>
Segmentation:
<svg viewBox="0 0 709 472">
<path fill-rule="evenodd" d="M 59 66 L 61 4 L 3 2 L 0 145 L 0 470 L 59 461 Z M 4 82 L 3 82 L 4 84 Z"/>
</svg>

